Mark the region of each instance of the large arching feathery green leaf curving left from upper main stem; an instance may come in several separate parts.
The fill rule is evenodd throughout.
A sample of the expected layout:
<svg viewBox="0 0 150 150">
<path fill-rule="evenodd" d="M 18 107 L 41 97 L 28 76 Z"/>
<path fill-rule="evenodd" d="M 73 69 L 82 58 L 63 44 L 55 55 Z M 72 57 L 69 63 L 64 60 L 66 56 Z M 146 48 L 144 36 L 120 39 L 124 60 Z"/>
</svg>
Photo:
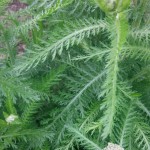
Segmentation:
<svg viewBox="0 0 150 150">
<path fill-rule="evenodd" d="M 57 38 L 50 43 L 43 41 L 43 44 L 46 46 L 37 46 L 36 52 L 30 51 L 31 57 L 26 58 L 25 62 L 17 66 L 15 70 L 22 72 L 23 70 L 27 71 L 30 68 L 35 68 L 38 64 L 44 63 L 50 55 L 54 59 L 57 53 L 61 55 L 64 48 L 68 49 L 74 44 L 79 44 L 83 38 L 88 38 L 90 35 L 96 35 L 100 31 L 105 30 L 106 26 L 104 21 L 95 21 L 93 19 L 71 23 L 71 27 L 66 29 L 65 35 L 62 35 L 60 31 L 60 33 L 55 33 L 56 35 L 54 36 Z"/>
</svg>

